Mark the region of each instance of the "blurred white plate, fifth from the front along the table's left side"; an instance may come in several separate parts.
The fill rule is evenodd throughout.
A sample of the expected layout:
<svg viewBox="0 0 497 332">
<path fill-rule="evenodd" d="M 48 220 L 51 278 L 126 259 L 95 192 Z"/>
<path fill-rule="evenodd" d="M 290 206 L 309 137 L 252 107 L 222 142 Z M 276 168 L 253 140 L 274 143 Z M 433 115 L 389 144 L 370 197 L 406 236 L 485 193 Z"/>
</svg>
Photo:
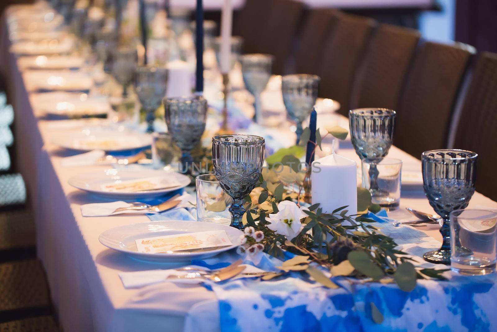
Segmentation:
<svg viewBox="0 0 497 332">
<path fill-rule="evenodd" d="M 35 91 L 88 91 L 93 79 L 86 73 L 70 70 L 27 70 L 23 74 L 26 90 Z"/>
</svg>

